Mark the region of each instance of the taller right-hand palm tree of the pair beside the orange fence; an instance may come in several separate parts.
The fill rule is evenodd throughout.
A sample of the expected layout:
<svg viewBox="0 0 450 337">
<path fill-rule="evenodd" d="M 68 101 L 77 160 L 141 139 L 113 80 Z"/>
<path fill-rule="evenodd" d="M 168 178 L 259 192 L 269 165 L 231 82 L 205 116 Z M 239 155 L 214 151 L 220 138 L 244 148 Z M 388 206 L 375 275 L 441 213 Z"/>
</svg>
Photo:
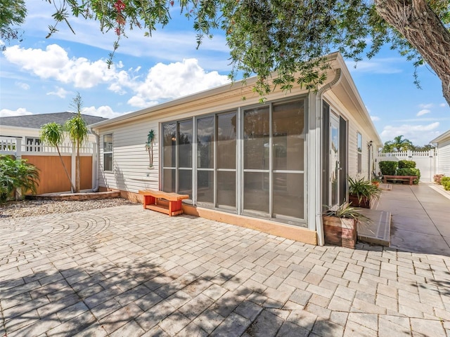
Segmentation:
<svg viewBox="0 0 450 337">
<path fill-rule="evenodd" d="M 86 126 L 86 122 L 82 118 L 82 96 L 77 93 L 75 98 L 72 100 L 72 107 L 75 107 L 75 110 L 77 110 L 77 116 L 72 117 L 72 119 L 69 119 L 65 122 L 65 129 L 68 132 L 69 138 L 77 145 L 77 159 L 75 161 L 75 192 L 78 193 L 81 187 L 81 177 L 80 177 L 80 164 L 79 164 L 79 147 L 86 143 L 86 140 L 88 139 L 87 133 L 88 129 Z"/>
</svg>

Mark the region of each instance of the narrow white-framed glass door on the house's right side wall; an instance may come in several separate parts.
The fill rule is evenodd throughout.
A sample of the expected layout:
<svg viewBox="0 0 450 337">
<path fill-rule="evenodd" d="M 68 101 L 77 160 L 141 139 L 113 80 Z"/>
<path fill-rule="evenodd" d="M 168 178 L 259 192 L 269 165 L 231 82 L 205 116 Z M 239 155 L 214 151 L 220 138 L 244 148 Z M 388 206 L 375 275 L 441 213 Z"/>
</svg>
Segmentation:
<svg viewBox="0 0 450 337">
<path fill-rule="evenodd" d="M 329 174 L 329 205 L 331 207 L 340 204 L 340 153 L 339 153 L 339 117 L 330 113 L 330 174 Z"/>
</svg>

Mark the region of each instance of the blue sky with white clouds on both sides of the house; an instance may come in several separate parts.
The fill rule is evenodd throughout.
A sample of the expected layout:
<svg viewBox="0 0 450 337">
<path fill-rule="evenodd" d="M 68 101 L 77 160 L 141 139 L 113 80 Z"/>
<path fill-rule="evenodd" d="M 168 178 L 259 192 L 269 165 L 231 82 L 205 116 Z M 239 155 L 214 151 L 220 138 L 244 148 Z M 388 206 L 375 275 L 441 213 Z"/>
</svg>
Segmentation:
<svg viewBox="0 0 450 337">
<path fill-rule="evenodd" d="M 75 35 L 60 24 L 60 32 L 45 39 L 53 7 L 41 1 L 27 6 L 23 41 L 6 44 L 0 54 L 0 116 L 70 111 L 79 92 L 84 113 L 111 118 L 228 81 L 224 35 L 218 32 L 196 49 L 191 22 L 176 8 L 172 18 L 178 20 L 152 37 L 128 32 L 108 69 L 113 33 L 72 18 Z M 450 129 L 450 107 L 429 67 L 420 67 L 418 89 L 411 62 L 389 48 L 347 66 L 383 142 L 404 135 L 424 145 Z"/>
</svg>

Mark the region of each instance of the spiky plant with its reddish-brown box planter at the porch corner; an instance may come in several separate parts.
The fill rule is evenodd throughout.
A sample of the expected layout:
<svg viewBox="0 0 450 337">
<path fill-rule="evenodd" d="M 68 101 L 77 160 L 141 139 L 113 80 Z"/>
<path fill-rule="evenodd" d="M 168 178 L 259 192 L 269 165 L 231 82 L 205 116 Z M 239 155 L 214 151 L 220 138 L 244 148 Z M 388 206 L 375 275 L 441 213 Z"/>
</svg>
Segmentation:
<svg viewBox="0 0 450 337">
<path fill-rule="evenodd" d="M 356 244 L 356 226 L 364 220 L 370 222 L 363 214 L 351 207 L 348 202 L 334 209 L 328 209 L 322 216 L 323 234 L 326 244 L 334 244 L 354 249 Z"/>
</svg>

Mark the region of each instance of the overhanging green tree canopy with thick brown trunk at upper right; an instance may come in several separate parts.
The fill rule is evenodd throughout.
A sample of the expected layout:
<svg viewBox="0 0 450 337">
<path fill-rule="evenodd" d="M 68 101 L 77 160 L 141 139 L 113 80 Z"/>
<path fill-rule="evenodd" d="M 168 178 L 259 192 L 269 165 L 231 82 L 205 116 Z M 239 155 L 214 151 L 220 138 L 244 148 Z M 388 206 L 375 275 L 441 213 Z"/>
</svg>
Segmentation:
<svg viewBox="0 0 450 337">
<path fill-rule="evenodd" d="M 51 0 L 46 0 L 51 2 Z M 390 44 L 416 67 L 425 62 L 442 81 L 450 105 L 450 1 L 448 0 L 179 0 L 193 20 L 198 44 L 223 29 L 231 49 L 231 78 L 257 74 L 255 89 L 264 95 L 276 86 L 297 83 L 317 88 L 326 81 L 323 55 L 338 50 L 346 58 L 371 58 Z M 53 15 L 56 25 L 70 15 L 100 22 L 117 34 L 146 34 L 169 22 L 173 0 L 65 0 Z M 25 14 L 24 14 L 25 15 Z M 50 27 L 49 35 L 56 32 Z"/>
</svg>

